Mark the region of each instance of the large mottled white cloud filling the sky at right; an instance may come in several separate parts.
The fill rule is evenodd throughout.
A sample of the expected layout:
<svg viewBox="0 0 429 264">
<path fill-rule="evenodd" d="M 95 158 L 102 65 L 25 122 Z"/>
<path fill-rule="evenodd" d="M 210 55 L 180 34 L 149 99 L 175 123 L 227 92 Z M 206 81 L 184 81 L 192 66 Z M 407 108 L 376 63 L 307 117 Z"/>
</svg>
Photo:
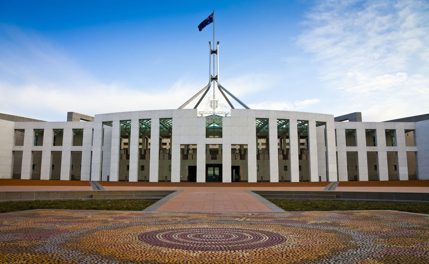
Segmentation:
<svg viewBox="0 0 429 264">
<path fill-rule="evenodd" d="M 323 1 L 305 25 L 297 43 L 341 98 L 326 109 L 361 111 L 368 121 L 429 111 L 429 3 Z"/>
</svg>

